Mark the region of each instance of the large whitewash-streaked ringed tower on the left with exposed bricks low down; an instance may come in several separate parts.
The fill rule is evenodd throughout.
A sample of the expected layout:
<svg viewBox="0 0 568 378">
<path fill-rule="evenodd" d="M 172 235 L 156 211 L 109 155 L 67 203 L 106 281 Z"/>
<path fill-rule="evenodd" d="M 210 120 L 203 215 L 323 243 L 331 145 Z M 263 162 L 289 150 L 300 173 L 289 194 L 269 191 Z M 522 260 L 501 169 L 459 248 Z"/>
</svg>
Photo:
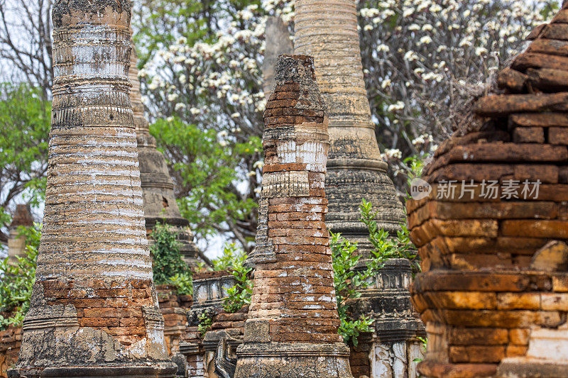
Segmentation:
<svg viewBox="0 0 568 378">
<path fill-rule="evenodd" d="M 31 309 L 10 377 L 174 377 L 129 100 L 130 1 L 57 0 L 53 119 Z"/>
</svg>

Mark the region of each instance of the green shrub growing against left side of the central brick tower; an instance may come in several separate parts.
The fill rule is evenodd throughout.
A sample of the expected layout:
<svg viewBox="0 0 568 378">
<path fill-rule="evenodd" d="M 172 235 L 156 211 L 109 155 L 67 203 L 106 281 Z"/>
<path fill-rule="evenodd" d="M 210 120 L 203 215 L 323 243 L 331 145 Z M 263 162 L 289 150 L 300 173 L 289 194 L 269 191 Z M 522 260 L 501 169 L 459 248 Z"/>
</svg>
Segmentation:
<svg viewBox="0 0 568 378">
<path fill-rule="evenodd" d="M 229 270 L 236 284 L 228 290 L 223 308 L 226 312 L 235 313 L 243 306 L 251 303 L 253 281 L 249 276 L 251 268 L 244 266 L 246 252 L 236 248 L 236 245 L 225 245 L 223 255 L 213 261 L 215 270 Z"/>
</svg>

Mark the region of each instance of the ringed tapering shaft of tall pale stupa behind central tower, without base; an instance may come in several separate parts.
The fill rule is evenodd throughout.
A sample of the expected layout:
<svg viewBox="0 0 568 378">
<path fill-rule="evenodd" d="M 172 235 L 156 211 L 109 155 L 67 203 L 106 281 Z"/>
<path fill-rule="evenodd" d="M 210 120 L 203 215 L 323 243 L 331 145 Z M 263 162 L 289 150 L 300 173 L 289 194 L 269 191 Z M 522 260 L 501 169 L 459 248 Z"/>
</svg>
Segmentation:
<svg viewBox="0 0 568 378">
<path fill-rule="evenodd" d="M 359 220 L 362 199 L 378 211 L 379 228 L 395 234 L 405 220 L 403 205 L 381 158 L 368 104 L 356 4 L 353 0 L 297 0 L 295 52 L 312 55 L 317 84 L 329 109 L 331 148 L 327 160 L 327 226 L 371 250 Z"/>
</svg>

